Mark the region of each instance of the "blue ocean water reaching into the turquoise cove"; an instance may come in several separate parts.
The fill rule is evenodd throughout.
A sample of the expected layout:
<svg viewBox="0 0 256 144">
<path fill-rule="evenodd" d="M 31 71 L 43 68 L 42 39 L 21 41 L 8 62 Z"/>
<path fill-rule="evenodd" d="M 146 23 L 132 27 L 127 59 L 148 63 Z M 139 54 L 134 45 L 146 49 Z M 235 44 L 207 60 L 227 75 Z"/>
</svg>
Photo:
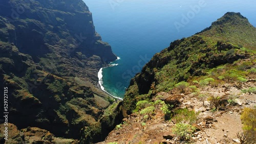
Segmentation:
<svg viewBox="0 0 256 144">
<path fill-rule="evenodd" d="M 170 42 L 209 27 L 226 12 L 241 12 L 256 26 L 256 1 L 83 0 L 96 31 L 120 57 L 103 68 L 105 91 L 123 98 L 130 80 Z"/>
</svg>

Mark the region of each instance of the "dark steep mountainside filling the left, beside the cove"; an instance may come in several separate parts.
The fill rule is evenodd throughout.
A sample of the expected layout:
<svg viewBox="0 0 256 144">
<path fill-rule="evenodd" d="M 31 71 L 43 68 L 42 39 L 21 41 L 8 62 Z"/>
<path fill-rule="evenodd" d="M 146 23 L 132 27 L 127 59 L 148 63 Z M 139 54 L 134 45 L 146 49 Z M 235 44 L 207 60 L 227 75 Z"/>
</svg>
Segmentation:
<svg viewBox="0 0 256 144">
<path fill-rule="evenodd" d="M 74 139 L 84 127 L 100 129 L 112 98 L 96 87 L 97 72 L 116 58 L 82 0 L 1 2 L 0 86 L 18 129 Z"/>
</svg>

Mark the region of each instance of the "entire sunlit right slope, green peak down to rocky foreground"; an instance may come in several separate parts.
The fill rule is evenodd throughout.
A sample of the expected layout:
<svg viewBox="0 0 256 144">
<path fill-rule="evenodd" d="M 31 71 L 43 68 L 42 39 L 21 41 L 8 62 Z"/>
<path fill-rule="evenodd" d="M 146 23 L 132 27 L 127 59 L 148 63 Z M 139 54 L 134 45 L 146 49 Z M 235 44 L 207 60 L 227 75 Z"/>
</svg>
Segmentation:
<svg viewBox="0 0 256 144">
<path fill-rule="evenodd" d="M 255 143 L 255 34 L 228 12 L 170 43 L 131 80 L 123 122 L 99 143 Z"/>
</svg>

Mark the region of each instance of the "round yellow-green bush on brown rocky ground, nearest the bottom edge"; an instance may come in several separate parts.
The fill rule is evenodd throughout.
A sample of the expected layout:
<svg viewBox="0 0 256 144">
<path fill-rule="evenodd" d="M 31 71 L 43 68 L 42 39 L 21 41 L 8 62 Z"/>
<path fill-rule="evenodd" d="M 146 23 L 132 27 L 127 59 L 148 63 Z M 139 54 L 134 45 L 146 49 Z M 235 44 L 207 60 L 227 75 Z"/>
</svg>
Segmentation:
<svg viewBox="0 0 256 144">
<path fill-rule="evenodd" d="M 175 124 L 172 131 L 178 137 L 180 141 L 188 141 L 190 135 L 196 130 L 195 127 L 189 124 L 178 123 Z"/>
</svg>

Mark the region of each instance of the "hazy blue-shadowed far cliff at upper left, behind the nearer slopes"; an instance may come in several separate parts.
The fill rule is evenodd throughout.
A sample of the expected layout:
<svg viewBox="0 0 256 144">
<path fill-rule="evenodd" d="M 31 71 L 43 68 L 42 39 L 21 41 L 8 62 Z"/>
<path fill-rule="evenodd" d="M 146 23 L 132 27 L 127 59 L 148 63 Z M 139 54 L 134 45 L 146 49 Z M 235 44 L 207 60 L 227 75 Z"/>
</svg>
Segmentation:
<svg viewBox="0 0 256 144">
<path fill-rule="evenodd" d="M 49 52 L 61 56 L 81 52 L 86 57 L 99 56 L 105 62 L 116 59 L 111 47 L 95 32 L 92 14 L 82 1 L 3 3 L 0 14 L 14 26 L 9 42 L 21 53 L 35 59 Z"/>
</svg>

